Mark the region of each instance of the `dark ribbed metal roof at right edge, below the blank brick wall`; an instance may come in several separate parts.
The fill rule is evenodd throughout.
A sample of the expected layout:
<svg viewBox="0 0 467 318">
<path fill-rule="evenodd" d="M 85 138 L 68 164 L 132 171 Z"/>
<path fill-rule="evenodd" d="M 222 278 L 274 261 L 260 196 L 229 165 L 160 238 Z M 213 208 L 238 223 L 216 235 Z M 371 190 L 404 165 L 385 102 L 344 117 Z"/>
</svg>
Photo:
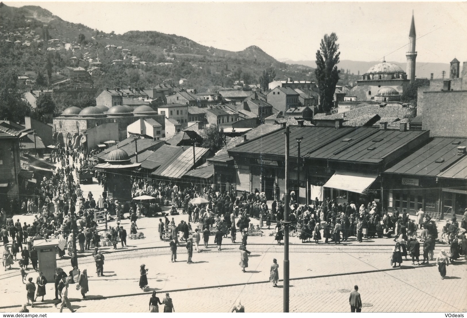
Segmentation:
<svg viewBox="0 0 467 318">
<path fill-rule="evenodd" d="M 467 138 L 433 138 L 385 172 L 466 179 L 467 156 L 457 155 L 460 146 L 467 146 Z"/>
</svg>

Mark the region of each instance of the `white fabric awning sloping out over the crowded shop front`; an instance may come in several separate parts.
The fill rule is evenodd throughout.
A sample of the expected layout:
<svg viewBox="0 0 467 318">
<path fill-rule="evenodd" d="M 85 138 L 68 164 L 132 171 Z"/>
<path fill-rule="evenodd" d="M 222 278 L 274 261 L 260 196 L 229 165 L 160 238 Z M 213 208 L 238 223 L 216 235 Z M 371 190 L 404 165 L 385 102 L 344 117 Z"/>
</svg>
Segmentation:
<svg viewBox="0 0 467 318">
<path fill-rule="evenodd" d="M 377 177 L 378 175 L 374 174 L 336 171 L 324 187 L 365 194 L 365 190 Z"/>
</svg>

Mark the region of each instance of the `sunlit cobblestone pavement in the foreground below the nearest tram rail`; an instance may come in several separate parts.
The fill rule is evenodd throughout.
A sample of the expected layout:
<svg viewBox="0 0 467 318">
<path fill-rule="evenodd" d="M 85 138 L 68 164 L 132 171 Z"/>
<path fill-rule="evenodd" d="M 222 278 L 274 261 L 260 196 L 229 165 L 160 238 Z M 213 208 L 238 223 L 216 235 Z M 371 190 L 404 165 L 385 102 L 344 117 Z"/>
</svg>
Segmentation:
<svg viewBox="0 0 467 318">
<path fill-rule="evenodd" d="M 226 276 L 229 274 L 225 274 Z M 433 267 L 290 281 L 290 312 L 347 312 L 348 292 L 359 285 L 362 312 L 459 312 L 467 310 L 464 266 L 448 267 L 441 280 Z M 240 299 L 247 312 L 281 312 L 283 289 L 271 283 L 170 291 L 177 312 L 227 312 Z M 163 296 L 161 290 L 159 297 Z M 167 290 L 169 291 L 169 290 Z M 150 295 L 72 301 L 78 312 L 147 312 Z M 7 312 L 19 308 L 5 309 Z M 52 304 L 31 312 L 57 312 Z"/>
</svg>

